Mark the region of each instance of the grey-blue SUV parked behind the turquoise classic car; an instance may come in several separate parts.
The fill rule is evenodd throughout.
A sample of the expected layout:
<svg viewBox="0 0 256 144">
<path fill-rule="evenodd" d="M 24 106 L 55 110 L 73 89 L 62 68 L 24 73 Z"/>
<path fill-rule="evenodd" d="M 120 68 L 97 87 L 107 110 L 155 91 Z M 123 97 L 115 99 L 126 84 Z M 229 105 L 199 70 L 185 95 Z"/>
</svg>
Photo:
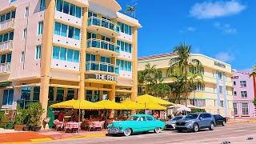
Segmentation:
<svg viewBox="0 0 256 144">
<path fill-rule="evenodd" d="M 193 130 L 198 132 L 199 129 L 209 128 L 214 130 L 214 116 L 208 113 L 192 113 L 187 114 L 184 118 L 176 122 L 175 130 L 182 132 L 183 130 Z"/>
</svg>

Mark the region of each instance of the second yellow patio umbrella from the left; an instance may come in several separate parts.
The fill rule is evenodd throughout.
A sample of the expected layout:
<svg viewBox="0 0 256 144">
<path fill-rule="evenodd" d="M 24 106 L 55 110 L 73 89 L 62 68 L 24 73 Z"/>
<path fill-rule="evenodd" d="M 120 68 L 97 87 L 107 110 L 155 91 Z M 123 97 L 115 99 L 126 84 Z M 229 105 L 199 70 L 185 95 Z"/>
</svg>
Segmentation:
<svg viewBox="0 0 256 144">
<path fill-rule="evenodd" d="M 95 102 L 98 106 L 102 106 L 102 109 L 107 110 L 126 110 L 126 107 L 120 103 L 113 102 L 110 100 L 103 100 L 100 102 Z"/>
</svg>

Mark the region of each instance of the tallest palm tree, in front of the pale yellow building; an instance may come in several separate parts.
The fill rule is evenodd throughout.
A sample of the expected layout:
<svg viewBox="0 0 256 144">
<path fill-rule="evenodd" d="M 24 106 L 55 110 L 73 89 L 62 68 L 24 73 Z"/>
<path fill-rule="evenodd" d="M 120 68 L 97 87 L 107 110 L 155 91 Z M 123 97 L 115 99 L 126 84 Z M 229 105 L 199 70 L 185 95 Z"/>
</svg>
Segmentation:
<svg viewBox="0 0 256 144">
<path fill-rule="evenodd" d="M 170 78 L 173 78 L 174 82 L 179 82 L 179 86 L 182 90 L 177 90 L 178 93 L 185 93 L 186 104 L 187 97 L 192 90 L 194 90 L 194 81 L 198 82 L 200 77 L 194 74 L 194 70 L 200 70 L 202 63 L 195 58 L 190 58 L 191 46 L 186 43 L 181 43 L 174 47 L 174 54 L 177 54 L 174 58 L 170 59 L 170 67 L 167 70 L 167 74 Z M 191 71 L 192 70 L 192 71 Z M 178 95 L 180 102 L 180 95 Z"/>
</svg>

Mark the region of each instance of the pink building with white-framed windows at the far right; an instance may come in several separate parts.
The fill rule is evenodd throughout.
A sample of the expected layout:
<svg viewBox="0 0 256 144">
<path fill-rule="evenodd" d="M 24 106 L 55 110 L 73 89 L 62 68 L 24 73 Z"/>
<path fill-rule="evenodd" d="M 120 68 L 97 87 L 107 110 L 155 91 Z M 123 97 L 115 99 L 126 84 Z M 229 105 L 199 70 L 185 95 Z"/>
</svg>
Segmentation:
<svg viewBox="0 0 256 144">
<path fill-rule="evenodd" d="M 233 70 L 234 115 L 239 118 L 256 117 L 254 107 L 254 81 L 251 70 Z"/>
</svg>

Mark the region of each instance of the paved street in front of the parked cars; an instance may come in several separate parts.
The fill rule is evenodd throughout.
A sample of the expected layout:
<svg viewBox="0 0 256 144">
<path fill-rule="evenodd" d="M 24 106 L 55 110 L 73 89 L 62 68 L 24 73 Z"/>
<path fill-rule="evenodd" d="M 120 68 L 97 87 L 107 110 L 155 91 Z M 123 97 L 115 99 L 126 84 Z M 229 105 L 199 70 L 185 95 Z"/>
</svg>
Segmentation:
<svg viewBox="0 0 256 144">
<path fill-rule="evenodd" d="M 246 140 L 246 138 L 254 138 Z M 201 130 L 198 133 L 177 133 L 173 130 L 163 130 L 161 134 L 135 134 L 130 137 L 110 137 L 105 138 L 76 138 L 54 141 L 49 143 L 256 143 L 256 123 L 237 123 L 229 126 L 218 126 L 214 131 Z"/>
</svg>

